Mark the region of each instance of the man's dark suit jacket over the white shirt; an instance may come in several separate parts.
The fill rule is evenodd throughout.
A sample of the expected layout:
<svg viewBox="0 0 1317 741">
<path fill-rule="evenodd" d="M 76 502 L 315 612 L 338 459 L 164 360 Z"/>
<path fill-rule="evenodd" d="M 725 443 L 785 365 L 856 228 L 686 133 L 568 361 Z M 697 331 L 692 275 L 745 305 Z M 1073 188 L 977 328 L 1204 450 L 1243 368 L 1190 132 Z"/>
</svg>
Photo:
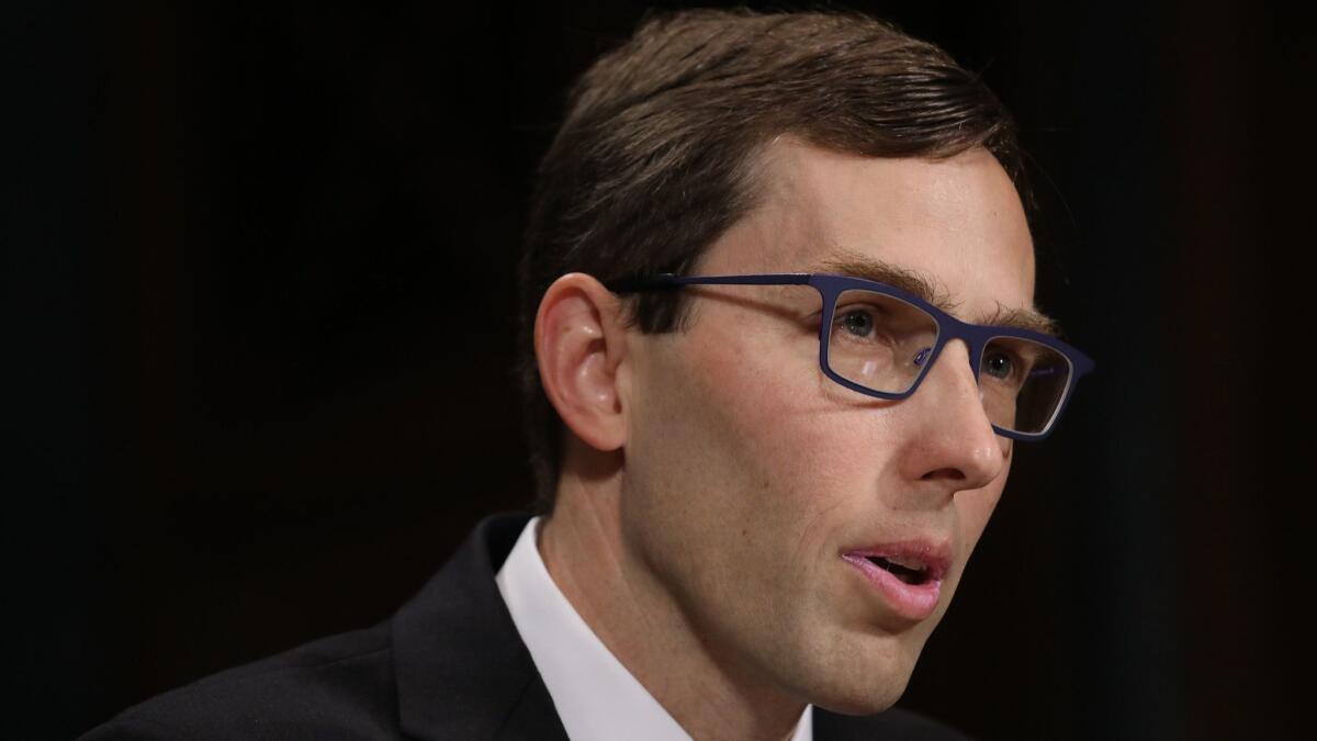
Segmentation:
<svg viewBox="0 0 1317 741">
<path fill-rule="evenodd" d="M 566 741 L 494 575 L 528 517 L 482 521 L 391 620 L 209 676 L 125 711 L 83 738 L 425 738 Z M 892 709 L 814 708 L 814 738 L 950 740 Z"/>
</svg>

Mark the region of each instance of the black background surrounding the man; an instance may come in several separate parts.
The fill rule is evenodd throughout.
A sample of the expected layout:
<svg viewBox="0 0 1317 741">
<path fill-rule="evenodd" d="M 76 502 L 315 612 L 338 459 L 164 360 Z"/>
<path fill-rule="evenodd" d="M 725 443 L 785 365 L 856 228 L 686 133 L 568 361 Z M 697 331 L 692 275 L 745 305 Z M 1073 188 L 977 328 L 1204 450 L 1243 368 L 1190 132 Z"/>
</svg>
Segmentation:
<svg viewBox="0 0 1317 741">
<path fill-rule="evenodd" d="M 661 4 L 670 7 L 670 4 Z M 903 704 L 982 738 L 1300 736 L 1308 28 L 874 3 L 1013 108 L 1097 359 Z M 531 171 L 639 3 L 9 5 L 7 738 L 389 616 L 531 488 Z"/>
</svg>

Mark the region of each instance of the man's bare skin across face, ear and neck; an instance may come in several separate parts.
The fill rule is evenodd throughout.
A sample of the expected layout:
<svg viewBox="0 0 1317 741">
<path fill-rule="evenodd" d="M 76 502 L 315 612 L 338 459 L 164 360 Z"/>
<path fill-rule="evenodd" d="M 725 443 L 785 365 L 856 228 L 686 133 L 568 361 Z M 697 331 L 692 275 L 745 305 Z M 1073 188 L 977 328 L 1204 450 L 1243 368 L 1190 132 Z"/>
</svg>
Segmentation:
<svg viewBox="0 0 1317 741">
<path fill-rule="evenodd" d="M 876 160 L 780 138 L 761 199 L 695 273 L 915 272 L 952 312 L 1031 311 L 1034 251 L 984 150 Z M 786 738 L 806 703 L 872 713 L 905 691 L 1010 468 L 952 341 L 889 402 L 818 368 L 817 293 L 710 286 L 686 330 L 644 335 L 570 274 L 536 323 L 545 392 L 569 434 L 539 547 L 603 643 L 694 738 Z M 813 307 L 810 306 L 813 302 Z M 934 614 L 911 621 L 840 554 L 946 543 Z"/>
</svg>

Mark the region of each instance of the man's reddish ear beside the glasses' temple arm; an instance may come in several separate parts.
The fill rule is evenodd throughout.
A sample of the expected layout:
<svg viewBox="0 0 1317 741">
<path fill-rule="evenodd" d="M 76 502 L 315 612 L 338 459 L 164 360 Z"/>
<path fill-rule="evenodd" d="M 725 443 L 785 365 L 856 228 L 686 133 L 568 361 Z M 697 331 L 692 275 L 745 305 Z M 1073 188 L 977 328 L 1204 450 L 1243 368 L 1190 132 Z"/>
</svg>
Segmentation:
<svg viewBox="0 0 1317 741">
<path fill-rule="evenodd" d="M 585 273 L 562 276 L 535 315 L 535 357 L 544 393 L 582 442 L 614 451 L 626 442 L 618 367 L 626 357 L 622 302 Z"/>
</svg>

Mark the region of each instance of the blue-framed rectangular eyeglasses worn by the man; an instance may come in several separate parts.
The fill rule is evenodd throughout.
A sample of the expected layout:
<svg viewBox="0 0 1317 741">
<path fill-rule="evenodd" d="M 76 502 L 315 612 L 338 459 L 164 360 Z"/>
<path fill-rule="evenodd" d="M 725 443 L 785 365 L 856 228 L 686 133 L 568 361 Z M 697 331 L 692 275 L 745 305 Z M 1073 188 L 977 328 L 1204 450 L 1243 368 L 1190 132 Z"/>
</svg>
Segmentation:
<svg viewBox="0 0 1317 741">
<path fill-rule="evenodd" d="M 652 276 L 623 281 L 616 293 L 680 286 L 807 285 L 822 298 L 819 365 L 828 378 L 861 394 L 902 400 L 951 340 L 969 348 L 984 411 L 998 435 L 1047 436 L 1075 390 L 1093 369 L 1083 352 L 1051 335 L 1019 327 L 969 324 L 909 291 L 849 276 Z"/>
</svg>

